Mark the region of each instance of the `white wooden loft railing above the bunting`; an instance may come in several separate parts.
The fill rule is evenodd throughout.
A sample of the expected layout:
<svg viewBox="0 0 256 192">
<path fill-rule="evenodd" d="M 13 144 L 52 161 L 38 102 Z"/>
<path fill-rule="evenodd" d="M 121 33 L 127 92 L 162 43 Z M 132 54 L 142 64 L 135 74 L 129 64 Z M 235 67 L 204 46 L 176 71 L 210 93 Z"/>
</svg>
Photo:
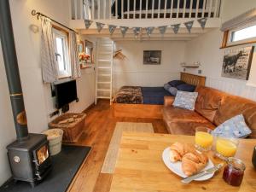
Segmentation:
<svg viewBox="0 0 256 192">
<path fill-rule="evenodd" d="M 221 0 L 70 0 L 72 20 L 218 18 Z"/>
</svg>

